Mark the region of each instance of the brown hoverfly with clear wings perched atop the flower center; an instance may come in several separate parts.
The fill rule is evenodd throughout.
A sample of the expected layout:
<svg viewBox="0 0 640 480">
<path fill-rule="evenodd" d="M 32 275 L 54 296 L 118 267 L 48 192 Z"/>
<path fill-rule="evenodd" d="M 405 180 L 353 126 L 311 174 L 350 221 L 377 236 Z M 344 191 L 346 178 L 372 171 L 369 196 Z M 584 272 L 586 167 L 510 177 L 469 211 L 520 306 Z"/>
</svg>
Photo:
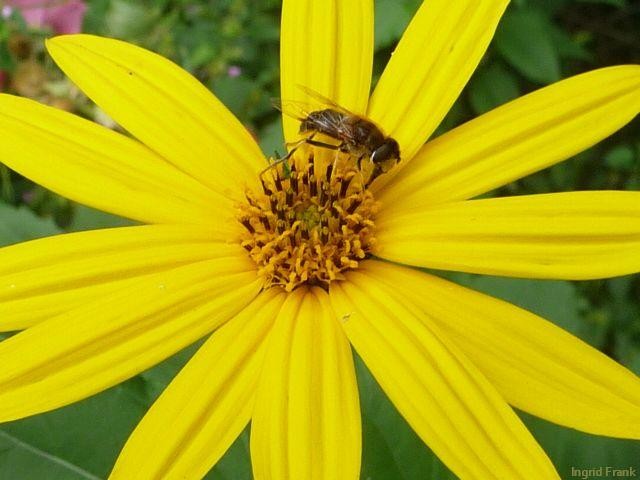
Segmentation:
<svg viewBox="0 0 640 480">
<path fill-rule="evenodd" d="M 301 143 L 338 150 L 356 157 L 358 168 L 361 168 L 363 159 L 369 159 L 373 164 L 369 183 L 387 171 L 389 163 L 395 165 L 400 161 L 398 142 L 382 133 L 382 130 L 371 120 L 350 112 L 309 88 L 302 86 L 300 88 L 325 108 L 308 111 L 298 102 L 273 101 L 277 109 L 300 121 L 299 133 L 304 136 L 302 140 L 292 143 L 293 148 L 289 154 L 278 161 L 288 159 Z M 324 134 L 340 143 L 334 145 L 318 141 L 314 138 L 316 134 Z"/>
</svg>

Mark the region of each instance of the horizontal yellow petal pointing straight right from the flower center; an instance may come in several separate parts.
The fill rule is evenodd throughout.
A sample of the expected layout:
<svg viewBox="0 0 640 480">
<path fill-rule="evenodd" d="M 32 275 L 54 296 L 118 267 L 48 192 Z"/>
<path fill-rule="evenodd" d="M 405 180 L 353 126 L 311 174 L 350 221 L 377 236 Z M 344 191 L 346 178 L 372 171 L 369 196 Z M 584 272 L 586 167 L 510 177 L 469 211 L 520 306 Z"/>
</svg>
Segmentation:
<svg viewBox="0 0 640 480">
<path fill-rule="evenodd" d="M 568 192 L 436 205 L 397 202 L 376 254 L 443 270 L 585 280 L 640 270 L 640 193 Z"/>
</svg>

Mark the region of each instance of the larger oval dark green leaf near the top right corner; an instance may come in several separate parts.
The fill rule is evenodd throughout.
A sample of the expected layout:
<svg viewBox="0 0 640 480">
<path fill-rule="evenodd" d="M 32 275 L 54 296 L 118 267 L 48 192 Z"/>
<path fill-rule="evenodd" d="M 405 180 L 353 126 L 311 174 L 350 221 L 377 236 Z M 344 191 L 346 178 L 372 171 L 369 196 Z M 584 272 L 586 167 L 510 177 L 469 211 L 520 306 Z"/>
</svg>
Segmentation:
<svg viewBox="0 0 640 480">
<path fill-rule="evenodd" d="M 500 54 L 528 80 L 548 84 L 560 79 L 560 59 L 553 24 L 534 9 L 509 10 L 495 36 Z"/>
</svg>

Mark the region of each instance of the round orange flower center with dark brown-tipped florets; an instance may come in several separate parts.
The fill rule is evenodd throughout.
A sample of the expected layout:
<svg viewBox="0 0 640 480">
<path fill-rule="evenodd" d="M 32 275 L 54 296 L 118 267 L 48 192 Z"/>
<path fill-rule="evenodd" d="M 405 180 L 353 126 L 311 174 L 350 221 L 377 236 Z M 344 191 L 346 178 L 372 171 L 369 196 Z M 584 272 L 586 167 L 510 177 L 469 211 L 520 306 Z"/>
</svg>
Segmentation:
<svg viewBox="0 0 640 480">
<path fill-rule="evenodd" d="M 238 215 L 242 246 L 267 287 L 326 288 L 372 251 L 377 204 L 357 163 L 304 145 L 261 175 L 261 192 L 246 192 Z"/>
</svg>

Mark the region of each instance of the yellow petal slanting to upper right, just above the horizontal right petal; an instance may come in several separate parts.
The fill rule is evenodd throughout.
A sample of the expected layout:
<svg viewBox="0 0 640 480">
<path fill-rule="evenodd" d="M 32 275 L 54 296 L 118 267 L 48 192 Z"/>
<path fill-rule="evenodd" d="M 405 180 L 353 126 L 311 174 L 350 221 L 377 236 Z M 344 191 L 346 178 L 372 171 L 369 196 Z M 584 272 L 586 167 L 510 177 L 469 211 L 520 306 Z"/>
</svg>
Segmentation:
<svg viewBox="0 0 640 480">
<path fill-rule="evenodd" d="M 594 70 L 543 88 L 427 143 L 380 200 L 463 200 L 565 160 L 640 111 L 640 66 Z"/>
</svg>

